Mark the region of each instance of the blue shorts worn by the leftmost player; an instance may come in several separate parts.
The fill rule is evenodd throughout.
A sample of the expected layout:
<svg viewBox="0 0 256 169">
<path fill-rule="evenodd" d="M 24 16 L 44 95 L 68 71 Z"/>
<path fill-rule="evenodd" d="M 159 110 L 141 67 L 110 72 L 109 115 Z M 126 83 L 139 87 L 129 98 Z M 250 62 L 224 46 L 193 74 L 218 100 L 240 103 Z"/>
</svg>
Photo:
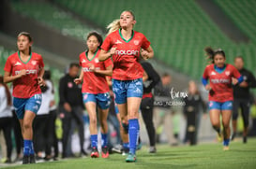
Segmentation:
<svg viewBox="0 0 256 169">
<path fill-rule="evenodd" d="M 23 120 L 24 113 L 27 110 L 37 114 L 41 106 L 41 102 L 42 102 L 41 94 L 35 94 L 34 96 L 27 99 L 14 97 L 13 106 L 15 108 L 17 118 L 19 120 Z"/>
</svg>

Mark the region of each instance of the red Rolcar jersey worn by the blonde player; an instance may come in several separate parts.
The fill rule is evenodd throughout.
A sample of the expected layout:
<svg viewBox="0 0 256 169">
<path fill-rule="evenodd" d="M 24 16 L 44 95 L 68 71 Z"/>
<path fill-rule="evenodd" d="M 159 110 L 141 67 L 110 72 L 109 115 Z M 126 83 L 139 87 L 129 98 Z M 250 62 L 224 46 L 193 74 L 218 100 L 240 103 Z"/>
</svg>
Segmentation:
<svg viewBox="0 0 256 169">
<path fill-rule="evenodd" d="M 141 48 L 147 49 L 150 42 L 139 32 L 133 31 L 130 39 L 121 35 L 121 29 L 114 31 L 104 40 L 101 49 L 116 48 L 113 54 L 113 78 L 132 80 L 143 77 L 143 67 L 139 63 Z"/>
</svg>

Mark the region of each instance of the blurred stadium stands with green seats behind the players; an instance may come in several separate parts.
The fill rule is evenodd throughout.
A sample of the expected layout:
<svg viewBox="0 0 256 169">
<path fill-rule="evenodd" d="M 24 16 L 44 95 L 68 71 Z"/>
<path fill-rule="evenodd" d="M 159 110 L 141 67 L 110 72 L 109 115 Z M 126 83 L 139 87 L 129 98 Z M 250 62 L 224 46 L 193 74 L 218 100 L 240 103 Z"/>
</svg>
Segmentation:
<svg viewBox="0 0 256 169">
<path fill-rule="evenodd" d="M 107 24 L 131 9 L 134 29 L 146 35 L 155 50 L 150 62 L 160 74 L 172 75 L 176 91 L 186 89 L 190 79 L 200 83 L 206 46 L 223 49 L 228 63 L 242 55 L 256 75 L 255 7 L 255 0 L 1 0 L 0 74 L 17 50 L 16 36 L 27 31 L 34 38 L 33 50 L 52 70 L 57 92 L 68 63 L 78 62 L 85 49 L 87 33 L 105 35 Z M 209 124 L 204 121 L 202 128 L 210 130 Z"/>
</svg>

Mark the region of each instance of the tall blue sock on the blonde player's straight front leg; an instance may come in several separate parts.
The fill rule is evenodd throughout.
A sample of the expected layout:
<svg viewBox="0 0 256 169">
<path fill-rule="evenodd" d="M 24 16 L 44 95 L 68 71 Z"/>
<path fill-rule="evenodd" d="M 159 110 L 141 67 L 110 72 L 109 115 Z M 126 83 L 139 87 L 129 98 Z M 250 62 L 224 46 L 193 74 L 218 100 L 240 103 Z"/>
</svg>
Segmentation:
<svg viewBox="0 0 256 169">
<path fill-rule="evenodd" d="M 129 139 L 129 153 L 136 153 L 136 145 L 138 140 L 138 133 L 140 130 L 139 120 L 128 120 L 128 139 Z"/>
</svg>

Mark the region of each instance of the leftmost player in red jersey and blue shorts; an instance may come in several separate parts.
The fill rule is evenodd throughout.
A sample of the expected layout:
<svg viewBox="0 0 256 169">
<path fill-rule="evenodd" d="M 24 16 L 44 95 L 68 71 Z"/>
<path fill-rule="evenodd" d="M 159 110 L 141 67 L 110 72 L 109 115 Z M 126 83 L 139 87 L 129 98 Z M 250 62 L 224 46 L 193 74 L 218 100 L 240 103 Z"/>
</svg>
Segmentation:
<svg viewBox="0 0 256 169">
<path fill-rule="evenodd" d="M 13 82 L 13 106 L 23 133 L 23 163 L 35 163 L 32 123 L 41 105 L 44 63 L 41 55 L 31 51 L 29 33 L 18 35 L 17 46 L 18 52 L 10 55 L 5 65 L 4 81 Z"/>
</svg>

